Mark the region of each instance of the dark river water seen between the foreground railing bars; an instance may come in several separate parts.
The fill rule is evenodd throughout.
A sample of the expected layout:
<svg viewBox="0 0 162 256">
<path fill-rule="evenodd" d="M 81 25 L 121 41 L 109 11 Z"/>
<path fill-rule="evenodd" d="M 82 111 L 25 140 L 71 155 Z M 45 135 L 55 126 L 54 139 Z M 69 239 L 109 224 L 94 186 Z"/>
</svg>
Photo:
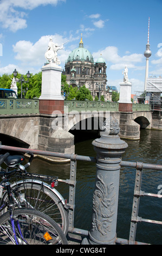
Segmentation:
<svg viewBox="0 0 162 256">
<path fill-rule="evenodd" d="M 77 155 L 95 156 L 92 141 L 75 142 Z M 144 162 L 162 165 L 162 131 L 141 130 L 139 141 L 125 140 L 128 148 L 122 155 L 122 160 L 132 162 Z M 58 175 L 60 179 L 69 179 L 70 164 L 53 164 L 40 159 L 34 159 L 30 171 Z M 90 229 L 92 216 L 92 197 L 94 190 L 96 167 L 95 163 L 77 161 L 76 195 L 75 195 L 75 221 L 74 227 Z M 129 238 L 129 228 L 132 214 L 132 202 L 134 192 L 135 169 L 122 167 L 120 172 L 119 205 L 117 237 Z M 162 188 L 162 172 L 157 170 L 144 170 L 142 174 L 141 190 L 147 193 L 159 192 Z M 58 190 L 64 198 L 68 199 L 69 187 L 59 183 Z M 144 197 L 140 198 L 139 216 L 142 218 L 162 221 L 162 199 Z M 162 225 L 151 223 L 138 223 L 135 240 L 146 243 L 162 244 Z"/>
</svg>

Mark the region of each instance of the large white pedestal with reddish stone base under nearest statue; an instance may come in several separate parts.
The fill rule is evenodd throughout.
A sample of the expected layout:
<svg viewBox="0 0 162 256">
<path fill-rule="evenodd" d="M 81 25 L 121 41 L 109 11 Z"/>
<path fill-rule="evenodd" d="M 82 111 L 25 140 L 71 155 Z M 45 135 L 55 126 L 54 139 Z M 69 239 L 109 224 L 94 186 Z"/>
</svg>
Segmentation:
<svg viewBox="0 0 162 256">
<path fill-rule="evenodd" d="M 40 114 L 64 113 L 64 99 L 61 96 L 62 69 L 54 63 L 42 67 L 42 93 L 40 96 Z"/>
</svg>

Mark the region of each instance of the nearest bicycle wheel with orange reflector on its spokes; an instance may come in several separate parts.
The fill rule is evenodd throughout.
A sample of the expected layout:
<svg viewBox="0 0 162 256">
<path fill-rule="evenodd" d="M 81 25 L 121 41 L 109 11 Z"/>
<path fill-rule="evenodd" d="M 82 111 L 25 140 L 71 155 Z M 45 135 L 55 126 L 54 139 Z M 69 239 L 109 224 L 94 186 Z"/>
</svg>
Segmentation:
<svg viewBox="0 0 162 256">
<path fill-rule="evenodd" d="M 59 225 L 43 212 L 35 209 L 16 209 L 12 213 L 15 230 L 12 231 L 10 213 L 0 217 L 0 245 L 67 245 Z"/>
</svg>

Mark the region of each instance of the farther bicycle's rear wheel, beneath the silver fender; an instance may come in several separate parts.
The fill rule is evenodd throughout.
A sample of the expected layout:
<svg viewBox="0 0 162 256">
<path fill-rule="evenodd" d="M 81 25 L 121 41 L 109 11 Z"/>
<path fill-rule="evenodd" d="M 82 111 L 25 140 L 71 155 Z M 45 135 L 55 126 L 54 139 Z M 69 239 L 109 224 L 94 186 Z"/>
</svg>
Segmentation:
<svg viewBox="0 0 162 256">
<path fill-rule="evenodd" d="M 23 206 L 34 208 L 47 214 L 60 225 L 63 233 L 67 234 L 69 224 L 68 212 L 64 209 L 61 200 L 53 191 L 43 186 L 43 184 L 28 180 L 22 181 L 22 183 L 16 184 L 12 188 L 15 191 L 15 196 L 17 193 L 17 198 L 20 198 L 20 194 L 24 194 L 25 201 L 28 204 L 22 204 Z M 7 193 L 4 194 L 1 205 L 6 200 L 8 200 Z"/>
</svg>

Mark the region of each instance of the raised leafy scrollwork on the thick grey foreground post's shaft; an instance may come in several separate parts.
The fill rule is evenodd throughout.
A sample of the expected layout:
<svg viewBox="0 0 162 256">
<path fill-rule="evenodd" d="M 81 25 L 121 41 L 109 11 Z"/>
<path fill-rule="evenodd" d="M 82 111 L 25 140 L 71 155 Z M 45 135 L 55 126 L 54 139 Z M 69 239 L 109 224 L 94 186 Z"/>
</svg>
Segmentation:
<svg viewBox="0 0 162 256">
<path fill-rule="evenodd" d="M 110 231 L 109 223 L 112 222 L 111 217 L 114 215 L 114 184 L 106 185 L 103 182 L 102 175 L 98 175 L 99 181 L 96 182 L 96 190 L 93 196 L 93 210 L 95 218 L 93 218 L 93 230 L 98 230 L 102 235 L 106 235 Z"/>
</svg>

